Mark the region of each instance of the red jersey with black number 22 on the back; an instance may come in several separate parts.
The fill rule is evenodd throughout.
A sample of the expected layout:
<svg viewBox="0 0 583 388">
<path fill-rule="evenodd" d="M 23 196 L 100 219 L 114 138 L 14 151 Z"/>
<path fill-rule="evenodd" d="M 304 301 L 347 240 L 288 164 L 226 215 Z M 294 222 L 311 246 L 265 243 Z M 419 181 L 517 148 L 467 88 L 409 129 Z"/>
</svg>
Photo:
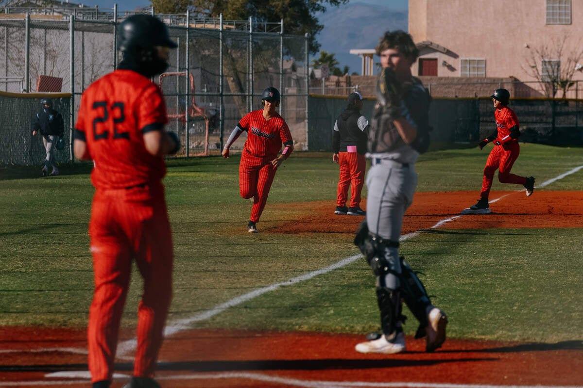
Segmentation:
<svg viewBox="0 0 583 388">
<path fill-rule="evenodd" d="M 93 186 L 159 183 L 166 163 L 147 152 L 143 134 L 163 130 L 166 122 L 160 88 L 141 74 L 115 70 L 91 84 L 81 98 L 75 136 L 86 141 L 95 162 Z"/>
</svg>

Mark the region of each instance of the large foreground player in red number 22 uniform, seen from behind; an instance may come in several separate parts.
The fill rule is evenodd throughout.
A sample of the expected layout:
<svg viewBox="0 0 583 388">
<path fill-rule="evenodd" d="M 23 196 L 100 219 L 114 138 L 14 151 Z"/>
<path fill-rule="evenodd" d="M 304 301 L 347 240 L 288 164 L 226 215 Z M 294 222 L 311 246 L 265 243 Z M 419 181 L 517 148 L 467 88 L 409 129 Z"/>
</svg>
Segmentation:
<svg viewBox="0 0 583 388">
<path fill-rule="evenodd" d="M 93 159 L 96 191 L 89 224 L 94 296 L 89 311 L 89 370 L 93 388 L 111 385 L 132 259 L 143 277 L 134 377 L 127 388 L 160 387 L 153 380 L 172 294 L 173 245 L 163 156 L 178 149 L 164 131 L 166 105 L 150 80 L 168 66 L 176 44 L 156 17 L 120 24 L 118 70 L 95 81 L 81 99 L 75 156 Z"/>
</svg>

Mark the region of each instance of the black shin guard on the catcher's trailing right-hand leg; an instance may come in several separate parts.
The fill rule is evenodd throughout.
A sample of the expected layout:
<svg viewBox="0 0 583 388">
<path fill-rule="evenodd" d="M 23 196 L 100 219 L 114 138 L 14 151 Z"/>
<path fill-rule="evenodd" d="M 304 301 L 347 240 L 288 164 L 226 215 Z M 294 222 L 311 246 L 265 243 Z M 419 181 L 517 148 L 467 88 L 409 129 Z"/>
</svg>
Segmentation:
<svg viewBox="0 0 583 388">
<path fill-rule="evenodd" d="M 431 305 L 431 300 L 423 283 L 417 277 L 417 273 L 411 269 L 404 257 L 401 256 L 400 259 L 403 301 L 419 321 L 419 329 L 417 329 L 415 337 L 421 338 L 425 336 L 425 327 L 429 323 L 427 321 L 427 307 Z"/>
</svg>

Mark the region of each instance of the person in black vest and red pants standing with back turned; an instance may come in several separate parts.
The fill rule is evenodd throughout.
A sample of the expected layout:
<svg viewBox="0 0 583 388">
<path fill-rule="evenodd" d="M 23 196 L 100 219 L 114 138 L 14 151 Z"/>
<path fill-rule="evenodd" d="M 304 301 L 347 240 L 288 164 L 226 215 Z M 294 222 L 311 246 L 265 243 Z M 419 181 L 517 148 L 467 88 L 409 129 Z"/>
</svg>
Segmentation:
<svg viewBox="0 0 583 388">
<path fill-rule="evenodd" d="M 340 165 L 338 195 L 335 214 L 364 216 L 366 212 L 360 208 L 360 193 L 364 186 L 366 170 L 366 154 L 368 119 L 360 114 L 363 108 L 363 97 L 359 92 L 350 93 L 348 104 L 334 124 L 332 161 Z M 350 192 L 350 207 L 346 207 L 348 188 Z"/>
</svg>

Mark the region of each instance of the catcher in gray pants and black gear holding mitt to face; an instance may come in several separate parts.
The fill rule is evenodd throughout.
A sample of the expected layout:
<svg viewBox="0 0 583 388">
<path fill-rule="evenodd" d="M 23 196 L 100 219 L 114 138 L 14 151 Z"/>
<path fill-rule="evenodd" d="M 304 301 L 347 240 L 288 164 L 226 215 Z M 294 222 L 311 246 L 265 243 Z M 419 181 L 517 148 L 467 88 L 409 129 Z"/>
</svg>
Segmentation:
<svg viewBox="0 0 583 388">
<path fill-rule="evenodd" d="M 409 34 L 387 31 L 379 42 L 382 71 L 377 104 L 368 132 L 366 220 L 357 230 L 359 246 L 376 277 L 382 335 L 359 343 L 360 353 L 406 351 L 402 300 L 419 321 L 416 338 L 426 336 L 426 351 L 445 341 L 447 316 L 431 304 L 416 273 L 399 257 L 403 215 L 417 186 L 415 162 L 429 147 L 431 97 L 410 67 L 419 51 Z"/>
</svg>

